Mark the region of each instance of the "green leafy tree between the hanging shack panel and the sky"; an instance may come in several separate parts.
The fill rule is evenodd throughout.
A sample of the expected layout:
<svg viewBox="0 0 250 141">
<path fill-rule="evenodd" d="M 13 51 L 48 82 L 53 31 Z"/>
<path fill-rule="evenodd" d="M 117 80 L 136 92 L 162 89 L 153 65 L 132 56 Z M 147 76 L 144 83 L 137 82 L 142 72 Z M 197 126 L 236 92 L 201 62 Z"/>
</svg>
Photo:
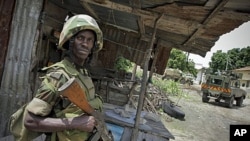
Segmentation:
<svg viewBox="0 0 250 141">
<path fill-rule="evenodd" d="M 169 68 L 179 69 L 183 72 L 189 72 L 194 76 L 197 74 L 193 60 L 188 60 L 188 56 L 178 49 L 172 49 L 167 66 Z"/>
</svg>

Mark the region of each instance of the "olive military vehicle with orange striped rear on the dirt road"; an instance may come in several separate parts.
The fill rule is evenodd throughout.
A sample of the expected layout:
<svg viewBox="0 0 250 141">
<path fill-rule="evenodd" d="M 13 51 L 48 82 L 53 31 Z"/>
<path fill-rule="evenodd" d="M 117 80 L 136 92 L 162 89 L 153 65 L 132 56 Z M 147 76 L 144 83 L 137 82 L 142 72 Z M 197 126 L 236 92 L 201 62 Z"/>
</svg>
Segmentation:
<svg viewBox="0 0 250 141">
<path fill-rule="evenodd" d="M 206 82 L 202 83 L 202 101 L 214 99 L 216 102 L 224 101 L 227 107 L 232 108 L 234 100 L 236 106 L 242 106 L 246 98 L 246 91 L 240 88 L 240 76 L 235 73 L 206 74 Z"/>
</svg>

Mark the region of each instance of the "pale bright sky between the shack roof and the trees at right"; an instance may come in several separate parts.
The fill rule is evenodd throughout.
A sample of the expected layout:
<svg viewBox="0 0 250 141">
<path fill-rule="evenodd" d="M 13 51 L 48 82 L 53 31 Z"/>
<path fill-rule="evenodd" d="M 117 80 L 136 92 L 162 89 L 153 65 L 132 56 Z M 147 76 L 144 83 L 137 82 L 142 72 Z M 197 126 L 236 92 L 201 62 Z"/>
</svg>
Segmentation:
<svg viewBox="0 0 250 141">
<path fill-rule="evenodd" d="M 219 40 L 215 42 L 215 45 L 207 52 L 205 57 L 190 54 L 189 59 L 192 59 L 196 64 L 202 64 L 203 67 L 209 67 L 208 63 L 211 61 L 213 53 L 217 50 L 227 52 L 233 48 L 245 48 L 247 46 L 250 46 L 250 21 L 220 36 Z"/>
</svg>

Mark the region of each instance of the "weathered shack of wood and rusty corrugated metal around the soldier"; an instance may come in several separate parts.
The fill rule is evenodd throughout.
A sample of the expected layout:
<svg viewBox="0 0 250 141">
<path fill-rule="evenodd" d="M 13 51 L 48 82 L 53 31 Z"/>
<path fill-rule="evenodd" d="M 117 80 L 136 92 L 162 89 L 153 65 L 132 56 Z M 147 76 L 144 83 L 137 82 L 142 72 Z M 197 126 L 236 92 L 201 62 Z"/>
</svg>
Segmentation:
<svg viewBox="0 0 250 141">
<path fill-rule="evenodd" d="M 66 17 L 88 14 L 100 25 L 104 47 L 93 66 L 113 69 L 123 56 L 143 68 L 142 109 L 147 71 L 163 74 L 172 48 L 204 57 L 221 35 L 250 20 L 249 5 L 249 0 L 0 0 L 0 138 L 9 135 L 10 115 L 34 96 L 41 68 L 61 59 L 57 44 Z M 113 99 L 118 90 L 100 81 L 107 85 L 100 91 L 108 91 L 108 102 L 126 103 Z M 138 137 L 145 133 L 141 114 L 135 115 Z"/>
</svg>

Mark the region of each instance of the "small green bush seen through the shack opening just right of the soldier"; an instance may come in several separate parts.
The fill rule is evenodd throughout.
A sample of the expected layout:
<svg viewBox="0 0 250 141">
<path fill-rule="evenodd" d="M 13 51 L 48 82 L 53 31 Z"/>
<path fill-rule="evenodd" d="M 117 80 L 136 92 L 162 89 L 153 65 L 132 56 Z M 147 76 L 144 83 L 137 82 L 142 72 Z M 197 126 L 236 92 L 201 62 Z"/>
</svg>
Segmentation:
<svg viewBox="0 0 250 141">
<path fill-rule="evenodd" d="M 119 56 L 116 61 L 115 61 L 115 65 L 114 65 L 114 68 L 118 71 L 129 71 L 129 69 L 132 67 L 132 63 L 122 57 L 122 56 Z"/>
</svg>

